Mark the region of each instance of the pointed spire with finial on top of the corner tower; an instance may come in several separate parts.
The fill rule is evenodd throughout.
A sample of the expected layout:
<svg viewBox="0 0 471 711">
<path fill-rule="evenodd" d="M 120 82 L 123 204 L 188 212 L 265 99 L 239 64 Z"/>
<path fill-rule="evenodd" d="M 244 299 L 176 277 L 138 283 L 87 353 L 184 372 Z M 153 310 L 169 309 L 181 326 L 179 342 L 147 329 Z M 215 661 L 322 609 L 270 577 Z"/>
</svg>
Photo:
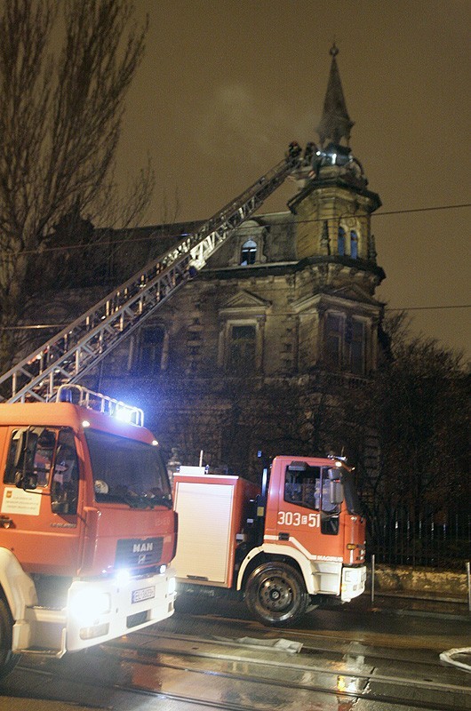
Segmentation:
<svg viewBox="0 0 471 711">
<path fill-rule="evenodd" d="M 331 46 L 331 74 L 329 75 L 329 83 L 327 84 L 327 92 L 323 102 L 323 115 L 321 123 L 317 127 L 321 146 L 325 146 L 328 142 L 339 144 L 343 139 L 347 145 L 350 140 L 350 130 L 354 125 L 348 116 L 347 105 L 342 90 L 340 81 L 339 68 L 337 66 L 336 56 L 339 54 L 335 42 Z"/>
</svg>

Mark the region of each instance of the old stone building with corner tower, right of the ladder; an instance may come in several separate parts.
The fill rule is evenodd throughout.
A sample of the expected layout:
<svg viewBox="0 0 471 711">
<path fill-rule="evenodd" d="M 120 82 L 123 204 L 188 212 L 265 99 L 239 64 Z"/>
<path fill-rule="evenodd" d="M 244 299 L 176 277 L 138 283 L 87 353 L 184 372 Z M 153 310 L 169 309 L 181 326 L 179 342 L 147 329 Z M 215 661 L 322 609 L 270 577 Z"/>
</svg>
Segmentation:
<svg viewBox="0 0 471 711">
<path fill-rule="evenodd" d="M 367 387 L 378 366 L 375 290 L 385 275 L 371 213 L 380 200 L 349 148 L 336 55 L 334 46 L 318 143 L 305 148 L 288 210 L 244 222 L 89 380 L 137 400 L 184 463 L 200 450 L 231 470 L 250 468 L 261 448 L 315 453 L 328 442 L 316 435 L 321 409 L 335 419 L 339 388 Z M 128 266 L 194 227 L 142 228 L 153 238 L 135 241 Z"/>
</svg>

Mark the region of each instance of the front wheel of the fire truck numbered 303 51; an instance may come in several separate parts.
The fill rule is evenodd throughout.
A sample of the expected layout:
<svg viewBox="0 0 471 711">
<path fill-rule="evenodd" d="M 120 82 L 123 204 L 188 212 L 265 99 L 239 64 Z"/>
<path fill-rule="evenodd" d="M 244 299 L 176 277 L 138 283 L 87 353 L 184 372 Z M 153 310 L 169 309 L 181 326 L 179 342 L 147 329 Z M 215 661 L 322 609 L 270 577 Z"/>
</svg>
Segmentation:
<svg viewBox="0 0 471 711">
<path fill-rule="evenodd" d="M 283 627 L 302 617 L 307 610 L 304 580 L 286 563 L 264 563 L 251 572 L 245 602 L 264 625 Z"/>
</svg>

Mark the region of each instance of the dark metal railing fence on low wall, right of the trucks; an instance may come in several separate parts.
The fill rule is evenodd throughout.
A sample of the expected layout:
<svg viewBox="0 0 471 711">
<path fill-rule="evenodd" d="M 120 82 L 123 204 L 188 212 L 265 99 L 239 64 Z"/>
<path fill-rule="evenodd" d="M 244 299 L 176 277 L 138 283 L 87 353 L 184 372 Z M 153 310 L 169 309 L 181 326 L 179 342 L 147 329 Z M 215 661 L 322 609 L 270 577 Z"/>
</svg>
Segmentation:
<svg viewBox="0 0 471 711">
<path fill-rule="evenodd" d="M 367 536 L 368 555 L 377 563 L 462 569 L 471 554 L 471 515 L 463 512 L 436 523 L 433 515 L 373 516 Z"/>
</svg>

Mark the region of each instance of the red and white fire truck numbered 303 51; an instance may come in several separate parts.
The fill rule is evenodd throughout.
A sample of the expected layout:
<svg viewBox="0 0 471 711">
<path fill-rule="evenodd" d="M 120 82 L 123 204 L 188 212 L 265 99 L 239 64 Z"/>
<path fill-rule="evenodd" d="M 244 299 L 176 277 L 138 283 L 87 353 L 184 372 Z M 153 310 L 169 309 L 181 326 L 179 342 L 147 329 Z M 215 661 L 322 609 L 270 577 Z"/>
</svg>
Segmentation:
<svg viewBox="0 0 471 711">
<path fill-rule="evenodd" d="M 173 489 L 179 593 L 236 592 L 275 627 L 327 598 L 363 593 L 365 522 L 343 459 L 275 457 L 261 486 L 180 467 Z"/>
</svg>

